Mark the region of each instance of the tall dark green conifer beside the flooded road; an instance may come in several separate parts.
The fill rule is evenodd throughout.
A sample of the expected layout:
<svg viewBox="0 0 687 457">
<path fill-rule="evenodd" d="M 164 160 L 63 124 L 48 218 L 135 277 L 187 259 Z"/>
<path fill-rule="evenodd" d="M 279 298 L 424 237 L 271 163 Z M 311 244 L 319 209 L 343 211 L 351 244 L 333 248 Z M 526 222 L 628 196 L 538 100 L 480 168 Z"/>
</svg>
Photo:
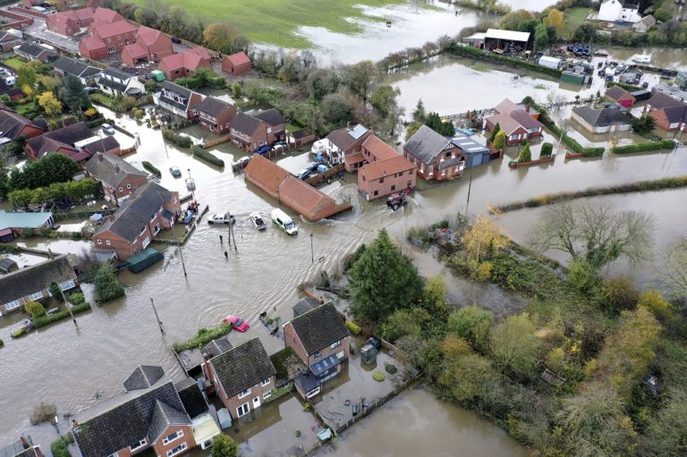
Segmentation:
<svg viewBox="0 0 687 457">
<path fill-rule="evenodd" d="M 380 230 L 351 269 L 352 309 L 357 317 L 380 322 L 396 309 L 418 302 L 422 279 L 410 258 Z"/>
</svg>

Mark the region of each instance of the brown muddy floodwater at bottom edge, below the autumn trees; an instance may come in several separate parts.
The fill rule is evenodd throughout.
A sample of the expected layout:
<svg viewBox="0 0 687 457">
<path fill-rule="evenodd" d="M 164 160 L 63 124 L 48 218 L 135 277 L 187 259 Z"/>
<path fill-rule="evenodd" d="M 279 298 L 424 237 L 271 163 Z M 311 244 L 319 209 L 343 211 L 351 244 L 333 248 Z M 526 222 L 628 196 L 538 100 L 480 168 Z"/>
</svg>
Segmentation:
<svg viewBox="0 0 687 457">
<path fill-rule="evenodd" d="M 530 453 L 494 424 L 437 402 L 416 387 L 344 432 L 334 450 L 325 448 L 315 455 L 525 457 Z"/>
</svg>

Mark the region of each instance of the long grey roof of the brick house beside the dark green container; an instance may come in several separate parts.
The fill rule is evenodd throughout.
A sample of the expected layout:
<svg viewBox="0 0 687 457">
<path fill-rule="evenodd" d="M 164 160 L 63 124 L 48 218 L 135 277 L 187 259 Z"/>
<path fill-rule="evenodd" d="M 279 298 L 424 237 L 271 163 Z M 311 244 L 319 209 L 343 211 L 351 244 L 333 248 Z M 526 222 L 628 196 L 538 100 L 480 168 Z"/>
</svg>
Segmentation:
<svg viewBox="0 0 687 457">
<path fill-rule="evenodd" d="M 114 212 L 114 221 L 103 224 L 99 233 L 107 230 L 121 236 L 124 240 L 134 241 L 141 228 L 148 224 L 148 220 L 155 216 L 157 210 L 165 202 L 172 201 L 173 193 L 155 182 L 148 182 L 145 186 L 136 190 L 133 199 L 126 200 L 117 211 Z"/>
</svg>

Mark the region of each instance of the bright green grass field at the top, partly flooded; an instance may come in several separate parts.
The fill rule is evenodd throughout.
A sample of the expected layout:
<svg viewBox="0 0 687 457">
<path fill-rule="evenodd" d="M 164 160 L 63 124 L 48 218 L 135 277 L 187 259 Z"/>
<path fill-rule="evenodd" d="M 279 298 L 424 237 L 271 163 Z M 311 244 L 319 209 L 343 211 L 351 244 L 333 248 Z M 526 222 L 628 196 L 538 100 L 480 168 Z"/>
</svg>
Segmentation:
<svg viewBox="0 0 687 457">
<path fill-rule="evenodd" d="M 165 4 L 181 6 L 197 14 L 204 23 L 226 21 L 254 42 L 283 47 L 307 48 L 310 42 L 294 32 L 300 26 L 324 27 L 340 33 L 360 32 L 359 24 L 349 18 L 365 17 L 369 21 L 381 18 L 364 16 L 356 4 L 383 6 L 406 4 L 406 0 L 163 0 Z M 147 0 L 133 0 L 146 5 Z"/>
</svg>

